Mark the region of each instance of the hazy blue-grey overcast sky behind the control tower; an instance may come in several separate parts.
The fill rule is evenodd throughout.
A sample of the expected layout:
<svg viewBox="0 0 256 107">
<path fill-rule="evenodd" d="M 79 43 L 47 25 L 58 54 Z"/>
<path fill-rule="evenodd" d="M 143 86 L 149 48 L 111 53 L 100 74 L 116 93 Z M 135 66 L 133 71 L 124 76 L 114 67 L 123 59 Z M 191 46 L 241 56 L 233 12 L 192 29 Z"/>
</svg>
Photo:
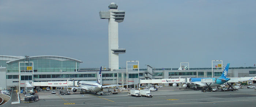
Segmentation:
<svg viewBox="0 0 256 107">
<path fill-rule="evenodd" d="M 60 55 L 80 68 L 108 67 L 108 20 L 99 11 L 117 3 L 119 67 L 253 66 L 256 0 L 0 0 L 0 55 Z"/>
</svg>

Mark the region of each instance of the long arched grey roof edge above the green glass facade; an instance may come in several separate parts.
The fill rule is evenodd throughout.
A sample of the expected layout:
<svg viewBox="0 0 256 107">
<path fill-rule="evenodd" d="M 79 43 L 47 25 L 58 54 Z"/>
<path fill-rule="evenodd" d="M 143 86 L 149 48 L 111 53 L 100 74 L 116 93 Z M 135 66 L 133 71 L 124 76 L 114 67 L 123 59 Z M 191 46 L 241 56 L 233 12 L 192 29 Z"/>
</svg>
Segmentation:
<svg viewBox="0 0 256 107">
<path fill-rule="evenodd" d="M 56 55 L 40 55 L 40 56 L 31 56 L 29 58 L 40 58 L 40 57 L 41 58 L 48 58 L 48 59 L 55 59 L 55 60 L 59 60 L 59 61 L 66 61 L 66 59 L 71 59 L 71 60 L 74 60 L 74 61 L 79 62 L 79 63 L 83 62 L 83 61 L 78 60 L 78 59 L 69 58 L 69 57 L 63 57 L 63 56 L 56 56 Z M 12 60 L 12 61 L 7 61 L 6 63 L 15 62 L 15 61 L 22 60 L 22 59 L 25 59 L 25 57 L 19 58 L 19 59 L 15 59 L 15 60 Z"/>
</svg>

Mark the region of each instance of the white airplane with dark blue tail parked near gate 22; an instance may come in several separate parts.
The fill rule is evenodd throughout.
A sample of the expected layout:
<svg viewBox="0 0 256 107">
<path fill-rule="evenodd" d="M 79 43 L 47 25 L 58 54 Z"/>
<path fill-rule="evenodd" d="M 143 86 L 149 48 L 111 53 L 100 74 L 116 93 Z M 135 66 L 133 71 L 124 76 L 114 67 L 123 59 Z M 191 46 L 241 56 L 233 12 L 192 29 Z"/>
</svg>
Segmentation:
<svg viewBox="0 0 256 107">
<path fill-rule="evenodd" d="M 101 70 L 102 70 L 102 67 L 99 70 L 99 75 L 98 75 L 98 78 L 97 78 L 96 82 L 79 81 L 78 82 L 78 87 L 76 87 L 76 86 L 58 86 L 58 87 L 72 88 L 71 90 L 73 92 L 76 92 L 77 89 L 91 91 L 91 92 L 98 92 L 98 91 L 101 91 L 102 88 L 113 87 L 113 86 L 124 86 L 124 85 L 105 85 L 105 86 L 102 86 L 101 85 L 101 82 L 102 82 L 101 81 Z M 132 84 L 128 84 L 128 85 L 132 85 Z"/>
</svg>

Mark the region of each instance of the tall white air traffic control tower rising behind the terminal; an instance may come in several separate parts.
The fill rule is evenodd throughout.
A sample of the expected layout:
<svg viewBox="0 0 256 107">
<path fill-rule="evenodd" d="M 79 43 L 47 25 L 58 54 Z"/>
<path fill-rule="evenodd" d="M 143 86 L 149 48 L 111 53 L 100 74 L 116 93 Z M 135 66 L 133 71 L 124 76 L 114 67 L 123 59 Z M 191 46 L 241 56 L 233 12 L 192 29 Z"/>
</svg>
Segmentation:
<svg viewBox="0 0 256 107">
<path fill-rule="evenodd" d="M 109 20 L 109 69 L 119 69 L 118 54 L 125 53 L 126 49 L 118 46 L 118 23 L 124 21 L 125 11 L 118 11 L 116 3 L 109 5 L 109 11 L 100 11 L 101 19 Z"/>
</svg>

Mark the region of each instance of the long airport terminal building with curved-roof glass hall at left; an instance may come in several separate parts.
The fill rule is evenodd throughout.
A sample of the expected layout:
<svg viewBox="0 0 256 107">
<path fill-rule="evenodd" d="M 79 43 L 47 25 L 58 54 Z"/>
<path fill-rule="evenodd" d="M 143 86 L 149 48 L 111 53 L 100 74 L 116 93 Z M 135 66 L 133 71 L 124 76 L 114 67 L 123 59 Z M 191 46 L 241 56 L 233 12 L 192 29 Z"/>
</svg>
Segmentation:
<svg viewBox="0 0 256 107">
<path fill-rule="evenodd" d="M 99 69 L 79 69 L 82 61 L 74 58 L 54 55 L 10 56 L 0 55 L 0 90 L 9 87 L 24 89 L 27 82 L 49 81 L 96 81 Z M 127 80 L 128 73 L 128 80 Z M 214 77 L 219 77 L 222 70 L 214 69 Z M 229 69 L 227 77 L 255 77 L 256 69 Z M 138 84 L 139 79 L 212 77 L 211 69 L 172 70 L 153 69 L 116 69 L 102 70 L 103 84 Z M 64 83 L 65 84 L 65 83 Z M 148 83 L 143 85 L 154 85 Z M 19 88 L 20 87 L 20 88 Z M 43 87 L 48 87 L 46 84 Z M 133 87 L 133 86 L 129 86 Z"/>
</svg>

